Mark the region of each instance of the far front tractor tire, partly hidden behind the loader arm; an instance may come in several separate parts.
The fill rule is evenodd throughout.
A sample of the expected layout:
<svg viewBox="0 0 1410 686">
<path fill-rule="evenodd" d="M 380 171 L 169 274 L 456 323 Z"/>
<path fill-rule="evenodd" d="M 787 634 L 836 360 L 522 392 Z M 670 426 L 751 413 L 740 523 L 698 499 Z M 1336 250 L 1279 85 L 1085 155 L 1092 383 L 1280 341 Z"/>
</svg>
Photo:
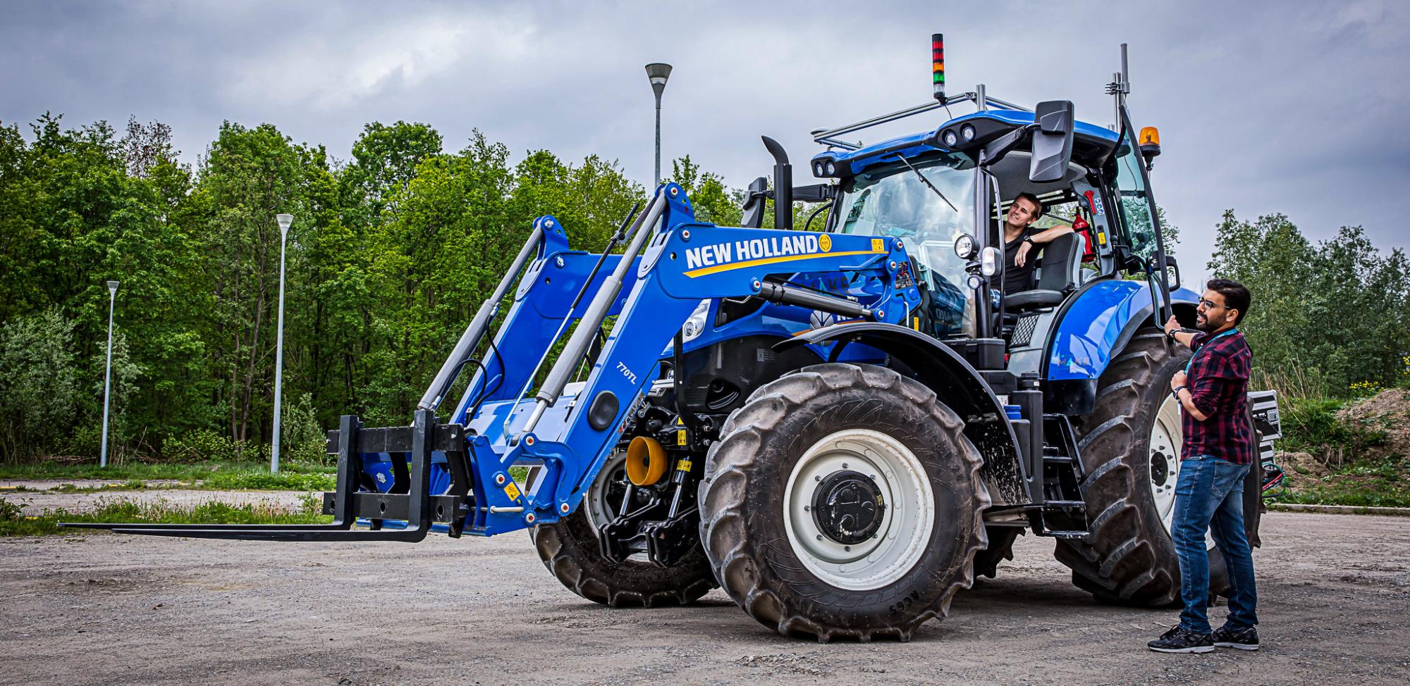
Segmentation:
<svg viewBox="0 0 1410 686">
<path fill-rule="evenodd" d="M 568 590 L 609 607 L 689 604 L 719 586 L 699 544 L 678 563 L 658 568 L 646 559 L 613 562 L 602 555 L 598 525 L 612 521 L 626 494 L 625 454 L 616 454 L 572 514 L 529 530 L 539 559 Z"/>
</svg>

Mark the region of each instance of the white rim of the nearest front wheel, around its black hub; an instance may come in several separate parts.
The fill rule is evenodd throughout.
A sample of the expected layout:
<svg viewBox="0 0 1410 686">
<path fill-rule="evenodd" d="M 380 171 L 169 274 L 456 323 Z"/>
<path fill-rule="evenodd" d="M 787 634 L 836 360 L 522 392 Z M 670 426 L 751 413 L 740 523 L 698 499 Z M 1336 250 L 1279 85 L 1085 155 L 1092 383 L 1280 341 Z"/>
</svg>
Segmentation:
<svg viewBox="0 0 1410 686">
<path fill-rule="evenodd" d="M 823 532 L 811 506 L 822 479 L 849 469 L 874 476 L 885 510 L 871 538 L 843 545 Z M 925 554 L 935 530 L 935 493 L 925 466 L 895 438 L 867 428 L 838 431 L 808 448 L 788 475 L 784 530 L 818 579 L 847 590 L 880 589 Z"/>
</svg>

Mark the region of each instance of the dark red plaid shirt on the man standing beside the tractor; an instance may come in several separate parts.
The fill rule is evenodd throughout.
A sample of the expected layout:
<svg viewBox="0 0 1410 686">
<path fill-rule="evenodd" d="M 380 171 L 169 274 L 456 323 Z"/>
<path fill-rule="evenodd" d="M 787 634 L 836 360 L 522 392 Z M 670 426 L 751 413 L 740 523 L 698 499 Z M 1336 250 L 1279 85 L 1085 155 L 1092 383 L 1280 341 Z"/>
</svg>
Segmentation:
<svg viewBox="0 0 1410 686">
<path fill-rule="evenodd" d="M 1208 344 L 1208 345 L 1206 345 Z M 1215 337 L 1194 334 L 1190 341 L 1194 358 L 1190 359 L 1189 378 L 1194 407 L 1204 414 L 1204 421 L 1196 420 L 1189 411 L 1182 411 L 1184 448 L 1180 459 L 1196 455 L 1246 465 L 1253 461 L 1253 431 L 1248 424 L 1248 373 L 1253 352 L 1248 348 L 1244 334 L 1234 332 Z"/>
</svg>

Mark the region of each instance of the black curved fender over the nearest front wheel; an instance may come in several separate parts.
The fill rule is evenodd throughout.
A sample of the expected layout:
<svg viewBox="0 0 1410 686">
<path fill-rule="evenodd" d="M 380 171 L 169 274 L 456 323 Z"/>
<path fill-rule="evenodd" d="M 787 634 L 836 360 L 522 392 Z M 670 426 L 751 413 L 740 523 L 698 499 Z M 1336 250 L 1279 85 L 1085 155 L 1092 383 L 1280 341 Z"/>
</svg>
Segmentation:
<svg viewBox="0 0 1410 686">
<path fill-rule="evenodd" d="M 880 349 L 909 369 L 945 404 L 964 420 L 964 435 L 984 455 L 984 475 L 994 493 L 994 504 L 1024 503 L 1025 473 L 1019 465 L 1018 437 L 1005 420 L 1004 406 L 984 383 L 980 373 L 959 354 L 918 331 L 884 323 L 849 323 L 815 328 L 774 345 L 783 351 L 795 345 L 846 345 L 860 342 Z M 838 356 L 833 348 L 830 359 Z M 902 370 L 904 372 L 904 370 Z"/>
</svg>

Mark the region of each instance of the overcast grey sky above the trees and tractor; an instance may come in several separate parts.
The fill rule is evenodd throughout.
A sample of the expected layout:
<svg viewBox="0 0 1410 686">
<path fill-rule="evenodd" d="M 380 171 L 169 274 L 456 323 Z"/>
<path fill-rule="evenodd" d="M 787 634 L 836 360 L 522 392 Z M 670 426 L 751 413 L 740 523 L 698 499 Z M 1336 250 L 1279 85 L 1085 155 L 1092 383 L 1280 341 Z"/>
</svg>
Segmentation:
<svg viewBox="0 0 1410 686">
<path fill-rule="evenodd" d="M 663 158 L 688 154 L 744 186 L 770 169 L 760 134 L 797 165 L 821 149 L 809 130 L 926 101 L 931 32 L 945 32 L 952 92 L 1067 99 L 1103 125 L 1103 85 L 1128 42 L 1132 116 L 1160 128 L 1156 197 L 1197 276 L 1225 208 L 1285 213 L 1313 239 L 1359 224 L 1383 249 L 1410 244 L 1407 6 L 6 0 L 0 121 L 157 120 L 190 162 L 221 120 L 268 121 L 340 159 L 368 121 L 423 121 L 448 151 L 478 128 L 516 159 L 598 154 L 649 186 L 642 66 L 668 62 Z"/>
</svg>

